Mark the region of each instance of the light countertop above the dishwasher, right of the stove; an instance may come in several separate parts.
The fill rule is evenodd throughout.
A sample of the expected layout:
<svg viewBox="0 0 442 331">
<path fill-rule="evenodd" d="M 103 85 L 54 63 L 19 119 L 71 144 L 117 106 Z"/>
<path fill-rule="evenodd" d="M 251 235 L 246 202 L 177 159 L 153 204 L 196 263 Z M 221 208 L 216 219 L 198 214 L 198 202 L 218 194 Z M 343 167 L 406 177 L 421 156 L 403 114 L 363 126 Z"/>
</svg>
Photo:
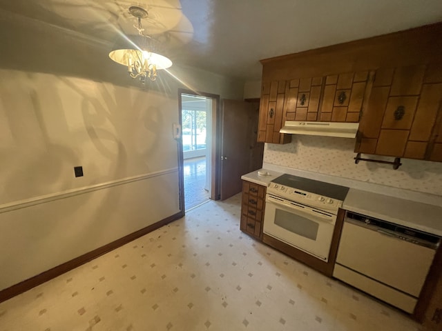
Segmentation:
<svg viewBox="0 0 442 331">
<path fill-rule="evenodd" d="M 442 237 L 442 207 L 350 188 L 343 209 Z"/>
</svg>

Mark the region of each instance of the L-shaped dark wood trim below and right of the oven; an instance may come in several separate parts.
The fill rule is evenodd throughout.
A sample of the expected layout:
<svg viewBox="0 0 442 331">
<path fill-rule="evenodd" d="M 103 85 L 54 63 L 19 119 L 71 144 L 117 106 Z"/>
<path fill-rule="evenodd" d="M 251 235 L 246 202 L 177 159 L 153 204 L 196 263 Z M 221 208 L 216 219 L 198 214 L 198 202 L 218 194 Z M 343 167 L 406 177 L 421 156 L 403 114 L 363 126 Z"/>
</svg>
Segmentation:
<svg viewBox="0 0 442 331">
<path fill-rule="evenodd" d="M 277 250 L 280 250 L 281 252 L 289 255 L 289 257 L 293 257 L 294 259 L 305 263 L 306 265 L 309 265 L 309 267 L 322 272 L 326 276 L 332 277 L 336 255 L 338 254 L 340 232 L 343 228 L 344 217 L 345 210 L 339 209 L 332 237 L 332 245 L 330 246 L 329 261 L 327 262 L 322 261 L 310 254 L 307 254 L 306 252 L 302 252 L 302 250 L 298 250 L 291 245 L 287 245 L 287 243 L 282 243 L 282 241 L 274 239 L 267 234 L 262 235 L 262 241 L 264 243 L 267 243 L 267 245 L 270 245 L 271 247 L 276 248 Z"/>
</svg>

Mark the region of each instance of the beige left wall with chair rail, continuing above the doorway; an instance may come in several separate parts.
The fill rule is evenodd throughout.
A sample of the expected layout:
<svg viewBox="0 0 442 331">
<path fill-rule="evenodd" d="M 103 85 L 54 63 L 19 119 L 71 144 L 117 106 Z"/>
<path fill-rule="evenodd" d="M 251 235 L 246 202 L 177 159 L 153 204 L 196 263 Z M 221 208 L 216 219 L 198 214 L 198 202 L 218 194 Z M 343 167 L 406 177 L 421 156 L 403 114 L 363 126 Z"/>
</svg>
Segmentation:
<svg viewBox="0 0 442 331">
<path fill-rule="evenodd" d="M 243 83 L 161 74 L 142 88 L 0 70 L 0 290 L 180 211 L 177 88 L 242 99 Z"/>
</svg>

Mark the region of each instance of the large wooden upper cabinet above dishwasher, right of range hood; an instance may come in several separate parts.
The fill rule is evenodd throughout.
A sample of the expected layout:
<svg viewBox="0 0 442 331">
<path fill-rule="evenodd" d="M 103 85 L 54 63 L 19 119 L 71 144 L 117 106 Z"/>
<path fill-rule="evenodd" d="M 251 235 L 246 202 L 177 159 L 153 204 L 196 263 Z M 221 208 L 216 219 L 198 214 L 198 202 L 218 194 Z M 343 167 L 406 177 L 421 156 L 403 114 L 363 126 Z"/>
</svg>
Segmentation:
<svg viewBox="0 0 442 331">
<path fill-rule="evenodd" d="M 442 161 L 441 102 L 442 63 L 377 70 L 355 152 Z"/>
</svg>

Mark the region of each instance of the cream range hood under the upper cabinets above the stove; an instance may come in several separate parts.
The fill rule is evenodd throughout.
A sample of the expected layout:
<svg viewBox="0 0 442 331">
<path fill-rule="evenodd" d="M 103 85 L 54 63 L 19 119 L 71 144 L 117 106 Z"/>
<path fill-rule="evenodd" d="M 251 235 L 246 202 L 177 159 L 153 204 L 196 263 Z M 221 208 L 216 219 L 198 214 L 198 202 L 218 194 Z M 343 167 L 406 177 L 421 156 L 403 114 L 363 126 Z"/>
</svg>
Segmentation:
<svg viewBox="0 0 442 331">
<path fill-rule="evenodd" d="M 285 121 L 279 131 L 289 134 L 308 134 L 310 136 L 354 138 L 358 132 L 359 123 L 342 122 L 306 122 Z"/>
</svg>

